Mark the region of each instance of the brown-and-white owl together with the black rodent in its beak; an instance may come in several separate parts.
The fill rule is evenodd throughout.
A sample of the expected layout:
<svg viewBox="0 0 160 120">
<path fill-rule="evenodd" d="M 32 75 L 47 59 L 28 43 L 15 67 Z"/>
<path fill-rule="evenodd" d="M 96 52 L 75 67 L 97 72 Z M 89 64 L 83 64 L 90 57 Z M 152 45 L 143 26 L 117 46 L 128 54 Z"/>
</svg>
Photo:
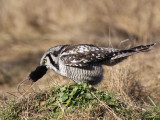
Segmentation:
<svg viewBox="0 0 160 120">
<path fill-rule="evenodd" d="M 97 85 L 103 80 L 103 65 L 114 66 L 131 55 L 151 50 L 155 44 L 130 49 L 98 47 L 91 44 L 58 45 L 44 53 L 40 66 L 31 72 L 26 80 L 36 82 L 51 69 L 76 83 Z"/>
</svg>

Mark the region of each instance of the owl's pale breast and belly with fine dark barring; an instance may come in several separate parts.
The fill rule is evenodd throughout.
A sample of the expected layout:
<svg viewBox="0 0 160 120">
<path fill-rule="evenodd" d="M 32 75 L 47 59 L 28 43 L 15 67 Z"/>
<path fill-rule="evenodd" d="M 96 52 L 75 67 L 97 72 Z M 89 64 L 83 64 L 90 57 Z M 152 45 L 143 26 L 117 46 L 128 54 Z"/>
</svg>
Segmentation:
<svg viewBox="0 0 160 120">
<path fill-rule="evenodd" d="M 100 64 L 88 64 L 85 67 L 72 67 L 59 62 L 58 74 L 74 80 L 77 83 L 88 82 L 98 84 L 103 79 L 103 68 Z"/>
</svg>

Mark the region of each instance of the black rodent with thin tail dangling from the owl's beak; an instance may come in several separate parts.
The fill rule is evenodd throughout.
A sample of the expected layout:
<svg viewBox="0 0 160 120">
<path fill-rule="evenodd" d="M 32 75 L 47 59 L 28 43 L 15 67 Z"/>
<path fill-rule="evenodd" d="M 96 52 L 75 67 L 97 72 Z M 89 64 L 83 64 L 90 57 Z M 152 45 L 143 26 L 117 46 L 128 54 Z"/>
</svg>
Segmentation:
<svg viewBox="0 0 160 120">
<path fill-rule="evenodd" d="M 17 90 L 18 90 L 18 92 L 20 93 L 20 94 L 22 94 L 21 92 L 20 92 L 20 86 L 22 85 L 22 83 L 24 83 L 25 81 L 28 81 L 28 80 L 31 80 L 32 82 L 31 82 L 31 86 L 32 86 L 32 83 L 33 82 L 36 82 L 37 80 L 39 80 L 40 78 L 42 78 L 45 74 L 46 74 L 46 72 L 47 72 L 47 68 L 46 68 L 46 66 L 38 66 L 34 71 L 32 71 L 30 74 L 29 74 L 29 76 L 28 76 L 28 78 L 27 79 L 24 79 L 23 81 L 21 81 L 19 84 L 18 84 L 18 87 L 17 87 Z M 30 86 L 30 88 L 31 88 L 31 86 Z M 29 89 L 30 89 L 29 88 Z"/>
</svg>

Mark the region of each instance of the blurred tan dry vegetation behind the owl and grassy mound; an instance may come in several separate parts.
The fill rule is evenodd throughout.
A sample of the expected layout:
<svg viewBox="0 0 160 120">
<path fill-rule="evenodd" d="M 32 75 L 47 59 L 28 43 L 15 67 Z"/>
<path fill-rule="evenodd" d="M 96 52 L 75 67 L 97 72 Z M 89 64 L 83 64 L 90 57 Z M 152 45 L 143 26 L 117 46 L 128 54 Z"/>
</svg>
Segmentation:
<svg viewBox="0 0 160 120">
<path fill-rule="evenodd" d="M 0 0 L 0 102 L 16 96 L 17 84 L 48 48 L 95 44 L 129 48 L 160 39 L 160 0 Z M 160 101 L 160 47 L 105 67 L 99 89 L 127 100 Z M 114 72 L 113 72 L 114 71 Z M 50 71 L 33 91 L 71 80 Z M 27 85 L 26 85 L 27 86 Z M 9 93 L 7 93 L 9 92 Z"/>
</svg>

